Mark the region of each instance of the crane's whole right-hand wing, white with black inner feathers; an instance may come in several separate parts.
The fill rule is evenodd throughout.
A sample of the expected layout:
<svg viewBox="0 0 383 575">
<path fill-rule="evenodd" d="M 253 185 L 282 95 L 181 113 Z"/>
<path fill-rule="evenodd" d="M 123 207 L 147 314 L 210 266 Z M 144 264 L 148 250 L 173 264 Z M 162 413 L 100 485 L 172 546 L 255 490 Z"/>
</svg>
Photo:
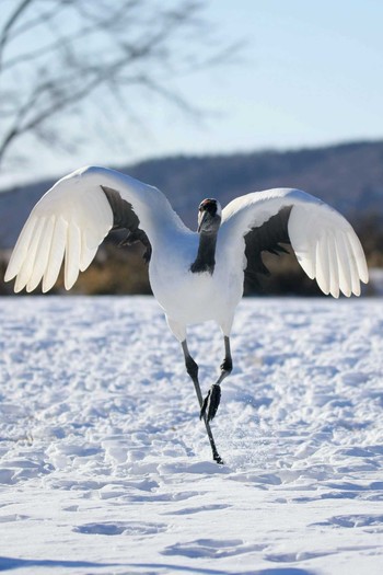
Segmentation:
<svg viewBox="0 0 383 575">
<path fill-rule="evenodd" d="M 289 243 L 304 272 L 326 295 L 337 298 L 340 290 L 347 297 L 359 296 L 360 281 L 369 279 L 350 223 L 305 192 L 280 188 L 237 197 L 222 211 L 220 233 L 228 253 L 236 252 L 242 269 L 265 272 L 262 252 L 278 253 L 283 251 L 280 243 Z"/>
</svg>

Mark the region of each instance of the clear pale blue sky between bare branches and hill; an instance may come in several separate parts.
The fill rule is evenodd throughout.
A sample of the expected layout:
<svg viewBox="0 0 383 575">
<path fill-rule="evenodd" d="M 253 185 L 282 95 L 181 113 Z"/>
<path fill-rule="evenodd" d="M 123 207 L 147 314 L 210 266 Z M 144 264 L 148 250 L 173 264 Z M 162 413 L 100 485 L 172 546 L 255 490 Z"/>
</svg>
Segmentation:
<svg viewBox="0 0 383 575">
<path fill-rule="evenodd" d="M 111 149 L 95 126 L 72 157 L 36 148 L 28 173 L 383 137 L 381 0 L 211 0 L 206 14 L 218 38 L 246 45 L 239 64 L 175 81 L 209 113 L 202 125 L 158 100 L 136 102 L 144 129 L 127 126 Z"/>
</svg>

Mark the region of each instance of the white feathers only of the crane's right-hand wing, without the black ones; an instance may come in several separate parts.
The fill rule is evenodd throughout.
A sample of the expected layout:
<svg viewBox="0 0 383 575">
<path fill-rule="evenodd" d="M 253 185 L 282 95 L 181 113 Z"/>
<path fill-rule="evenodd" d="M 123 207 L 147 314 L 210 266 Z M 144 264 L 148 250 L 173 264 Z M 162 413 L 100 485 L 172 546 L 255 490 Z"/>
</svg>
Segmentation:
<svg viewBox="0 0 383 575">
<path fill-rule="evenodd" d="M 369 280 L 364 253 L 350 223 L 335 209 L 298 189 L 269 189 L 247 194 L 222 211 L 224 242 L 243 250 L 237 238 L 291 206 L 288 233 L 298 262 L 326 295 L 360 295 L 360 281 Z M 241 260 L 239 260 L 241 261 Z"/>
</svg>

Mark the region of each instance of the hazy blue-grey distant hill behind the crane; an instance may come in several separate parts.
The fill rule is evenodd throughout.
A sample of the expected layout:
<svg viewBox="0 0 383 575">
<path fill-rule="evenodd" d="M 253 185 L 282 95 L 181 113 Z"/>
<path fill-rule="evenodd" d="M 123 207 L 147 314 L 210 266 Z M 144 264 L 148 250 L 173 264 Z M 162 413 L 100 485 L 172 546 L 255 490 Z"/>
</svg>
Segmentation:
<svg viewBox="0 0 383 575">
<path fill-rule="evenodd" d="M 371 215 L 383 219 L 383 141 L 283 152 L 179 156 L 117 169 L 162 189 L 193 229 L 204 197 L 217 197 L 225 205 L 235 196 L 270 187 L 304 189 L 351 222 Z M 14 244 L 32 207 L 53 183 L 35 182 L 0 194 L 0 249 Z"/>
</svg>

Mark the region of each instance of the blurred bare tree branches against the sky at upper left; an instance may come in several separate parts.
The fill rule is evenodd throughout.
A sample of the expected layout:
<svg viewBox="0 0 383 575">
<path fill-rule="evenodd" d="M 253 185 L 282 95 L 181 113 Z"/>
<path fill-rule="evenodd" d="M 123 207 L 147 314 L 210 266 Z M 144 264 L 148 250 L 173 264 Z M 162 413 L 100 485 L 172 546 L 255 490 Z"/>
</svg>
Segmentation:
<svg viewBox="0 0 383 575">
<path fill-rule="evenodd" d="M 1 0 L 0 166 L 25 135 L 70 148 L 59 128 L 93 101 L 131 113 L 135 90 L 193 105 L 171 78 L 225 61 L 199 0 Z M 198 49 L 196 49 L 198 47 Z M 131 97 L 131 94 L 134 96 Z"/>
</svg>

